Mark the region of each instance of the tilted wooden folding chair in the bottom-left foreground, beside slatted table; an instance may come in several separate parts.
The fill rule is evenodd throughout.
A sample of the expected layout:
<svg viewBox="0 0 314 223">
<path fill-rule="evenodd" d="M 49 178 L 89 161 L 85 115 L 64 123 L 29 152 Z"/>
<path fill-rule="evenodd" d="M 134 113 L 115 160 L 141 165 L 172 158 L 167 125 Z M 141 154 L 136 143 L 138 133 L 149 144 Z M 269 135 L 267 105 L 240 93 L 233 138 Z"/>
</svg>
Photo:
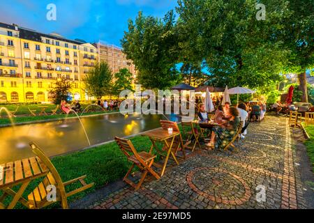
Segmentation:
<svg viewBox="0 0 314 223">
<path fill-rule="evenodd" d="M 82 192 L 84 190 L 87 190 L 94 185 L 94 183 L 89 184 L 85 183 L 84 178 L 86 178 L 86 175 L 80 176 L 79 178 L 75 178 L 73 180 L 69 180 L 63 183 L 57 169 L 54 167 L 54 165 L 47 157 L 47 155 L 45 155 L 45 153 L 43 153 L 43 151 L 33 142 L 29 143 L 29 145 L 31 146 L 31 150 L 33 151 L 33 153 L 35 153 L 40 158 L 40 160 L 45 164 L 45 166 L 49 170 L 49 173 L 43 179 L 43 181 L 28 196 L 30 209 L 44 208 L 45 206 L 49 206 L 50 204 L 55 203 L 57 201 L 61 201 L 62 208 L 67 209 L 68 197 L 79 192 Z M 80 183 L 81 187 L 77 188 L 76 190 L 66 192 L 65 187 L 73 183 Z M 47 194 L 49 193 L 47 191 L 48 190 L 47 187 L 49 185 L 54 185 L 54 187 L 56 187 L 57 194 L 55 201 L 49 201 L 47 199 Z"/>
</svg>

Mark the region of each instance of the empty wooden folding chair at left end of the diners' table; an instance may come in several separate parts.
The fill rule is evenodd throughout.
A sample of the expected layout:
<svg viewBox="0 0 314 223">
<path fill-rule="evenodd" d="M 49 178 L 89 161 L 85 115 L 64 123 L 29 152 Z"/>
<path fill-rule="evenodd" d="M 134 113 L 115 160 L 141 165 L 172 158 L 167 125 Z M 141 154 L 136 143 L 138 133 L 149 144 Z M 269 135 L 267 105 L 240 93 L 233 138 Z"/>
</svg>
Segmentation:
<svg viewBox="0 0 314 223">
<path fill-rule="evenodd" d="M 199 133 L 197 128 L 194 127 L 193 122 L 181 122 L 182 125 L 182 132 L 184 135 L 184 142 L 187 143 L 188 141 L 193 140 L 194 144 L 192 147 L 190 146 L 185 146 L 185 148 L 189 148 L 190 150 L 192 150 L 192 152 L 194 151 L 196 145 L 198 145 L 199 148 L 201 148 L 200 145 L 200 141 L 199 138 L 201 136 L 202 133 Z"/>
</svg>

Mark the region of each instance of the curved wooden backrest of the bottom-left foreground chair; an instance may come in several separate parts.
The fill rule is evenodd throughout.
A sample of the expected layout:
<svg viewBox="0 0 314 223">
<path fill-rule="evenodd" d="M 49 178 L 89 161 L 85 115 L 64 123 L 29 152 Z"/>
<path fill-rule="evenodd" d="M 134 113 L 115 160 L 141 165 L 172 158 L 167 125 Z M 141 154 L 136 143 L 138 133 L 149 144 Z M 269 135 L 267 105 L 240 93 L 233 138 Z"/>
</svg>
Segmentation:
<svg viewBox="0 0 314 223">
<path fill-rule="evenodd" d="M 45 166 L 49 169 L 50 173 L 54 177 L 54 180 L 56 180 L 57 183 L 56 187 L 59 190 L 63 190 L 65 192 L 63 181 L 57 169 L 54 167 L 54 164 L 52 164 L 52 162 L 50 161 L 49 157 L 47 157 L 47 155 L 45 155 L 45 153 L 39 148 L 39 146 L 37 146 L 32 141 L 29 143 L 29 146 L 31 146 L 31 151 L 35 155 L 37 155 L 40 158 L 40 160 L 45 164 Z"/>
</svg>

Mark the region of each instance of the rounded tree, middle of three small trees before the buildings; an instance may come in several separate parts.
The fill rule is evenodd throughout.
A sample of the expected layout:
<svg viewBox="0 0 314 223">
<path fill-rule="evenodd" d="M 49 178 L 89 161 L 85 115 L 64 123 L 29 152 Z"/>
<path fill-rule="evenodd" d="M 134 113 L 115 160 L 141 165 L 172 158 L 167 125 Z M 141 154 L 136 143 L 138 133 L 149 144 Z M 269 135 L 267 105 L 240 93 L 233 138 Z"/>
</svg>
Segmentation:
<svg viewBox="0 0 314 223">
<path fill-rule="evenodd" d="M 90 95 L 101 98 L 112 94 L 112 71 L 105 62 L 96 63 L 84 77 L 84 82 Z"/>
</svg>

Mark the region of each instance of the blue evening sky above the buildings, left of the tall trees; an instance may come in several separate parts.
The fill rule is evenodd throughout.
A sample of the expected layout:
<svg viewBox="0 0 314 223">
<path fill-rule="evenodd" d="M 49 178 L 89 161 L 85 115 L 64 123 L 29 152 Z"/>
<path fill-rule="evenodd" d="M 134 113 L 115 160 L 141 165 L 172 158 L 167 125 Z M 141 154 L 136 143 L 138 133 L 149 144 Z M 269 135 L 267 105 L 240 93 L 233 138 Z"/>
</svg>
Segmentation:
<svg viewBox="0 0 314 223">
<path fill-rule="evenodd" d="M 56 21 L 46 19 L 49 3 L 57 6 Z M 1 2 L 0 22 L 121 46 L 128 19 L 134 20 L 138 11 L 163 17 L 175 6 L 177 0 L 10 0 Z"/>
</svg>

